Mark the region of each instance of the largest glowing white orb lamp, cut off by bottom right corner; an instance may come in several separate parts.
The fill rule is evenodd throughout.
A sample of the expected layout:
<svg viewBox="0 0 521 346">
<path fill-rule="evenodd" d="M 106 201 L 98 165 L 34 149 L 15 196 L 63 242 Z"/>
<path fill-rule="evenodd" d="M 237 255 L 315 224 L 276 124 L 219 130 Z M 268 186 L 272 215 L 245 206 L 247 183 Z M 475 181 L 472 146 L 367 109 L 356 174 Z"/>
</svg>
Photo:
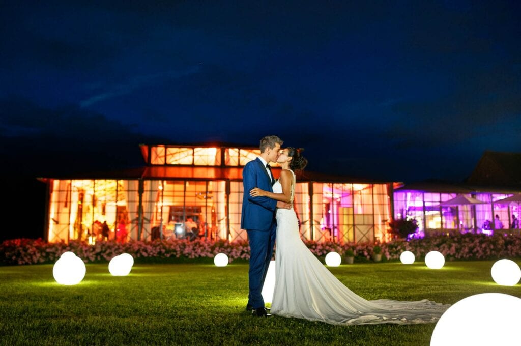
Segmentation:
<svg viewBox="0 0 521 346">
<path fill-rule="evenodd" d="M 468 296 L 443 313 L 432 332 L 430 346 L 518 345 L 519 311 L 521 299 L 513 295 Z"/>
</svg>

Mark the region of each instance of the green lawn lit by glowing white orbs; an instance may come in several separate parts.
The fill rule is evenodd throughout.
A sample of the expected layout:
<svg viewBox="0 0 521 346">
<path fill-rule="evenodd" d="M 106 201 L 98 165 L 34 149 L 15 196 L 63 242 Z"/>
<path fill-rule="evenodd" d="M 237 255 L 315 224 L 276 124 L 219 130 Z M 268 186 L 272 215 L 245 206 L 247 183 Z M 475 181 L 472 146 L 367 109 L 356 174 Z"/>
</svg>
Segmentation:
<svg viewBox="0 0 521 346">
<path fill-rule="evenodd" d="M 455 303 L 501 292 L 493 261 L 355 264 L 330 268 L 367 299 L 430 299 Z M 435 324 L 340 327 L 282 317 L 255 318 L 244 310 L 247 264 L 135 264 L 113 277 L 107 264 L 89 264 L 77 286 L 60 286 L 52 265 L 0 267 L 2 345 L 428 345 Z"/>
</svg>

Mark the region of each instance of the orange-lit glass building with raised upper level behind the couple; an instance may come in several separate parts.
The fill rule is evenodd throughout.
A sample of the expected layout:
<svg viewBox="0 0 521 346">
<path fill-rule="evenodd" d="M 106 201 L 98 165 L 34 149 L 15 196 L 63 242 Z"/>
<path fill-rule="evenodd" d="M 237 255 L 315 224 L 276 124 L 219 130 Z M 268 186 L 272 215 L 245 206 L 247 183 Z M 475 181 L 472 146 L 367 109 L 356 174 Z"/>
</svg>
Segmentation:
<svg viewBox="0 0 521 346">
<path fill-rule="evenodd" d="M 190 238 L 246 240 L 240 229 L 242 167 L 254 147 L 140 145 L 146 165 L 42 179 L 47 241 Z M 274 168 L 278 177 L 280 169 Z M 302 237 L 317 242 L 387 241 L 393 183 L 304 171 L 294 207 Z M 108 232 L 103 231 L 106 222 Z"/>
</svg>

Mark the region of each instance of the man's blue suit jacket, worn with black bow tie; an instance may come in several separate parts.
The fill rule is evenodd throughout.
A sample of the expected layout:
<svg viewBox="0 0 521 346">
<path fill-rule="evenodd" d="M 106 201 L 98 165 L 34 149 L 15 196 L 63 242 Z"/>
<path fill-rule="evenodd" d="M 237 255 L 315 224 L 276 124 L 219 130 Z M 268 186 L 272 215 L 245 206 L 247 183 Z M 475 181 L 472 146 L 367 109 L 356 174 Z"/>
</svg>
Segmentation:
<svg viewBox="0 0 521 346">
<path fill-rule="evenodd" d="M 242 199 L 241 229 L 268 231 L 275 223 L 277 201 L 268 197 L 252 197 L 250 190 L 259 188 L 273 192 L 271 177 L 257 157 L 242 170 L 244 195 Z"/>
</svg>

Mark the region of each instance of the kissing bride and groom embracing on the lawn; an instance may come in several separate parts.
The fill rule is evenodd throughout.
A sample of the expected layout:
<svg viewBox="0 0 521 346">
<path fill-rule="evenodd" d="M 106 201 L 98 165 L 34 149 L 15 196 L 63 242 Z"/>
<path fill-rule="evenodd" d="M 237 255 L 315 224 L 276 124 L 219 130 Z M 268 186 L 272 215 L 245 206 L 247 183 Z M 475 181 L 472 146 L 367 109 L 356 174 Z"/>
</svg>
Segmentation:
<svg viewBox="0 0 521 346">
<path fill-rule="evenodd" d="M 302 150 L 281 148 L 275 135 L 261 139 L 261 155 L 244 166 L 241 228 L 250 243 L 249 294 L 246 310 L 255 317 L 303 318 L 334 325 L 419 324 L 437 322 L 449 308 L 427 299 L 401 302 L 366 300 L 347 288 L 307 249 L 293 209 L 295 171 L 307 160 Z M 278 180 L 270 170 L 278 163 Z M 276 281 L 268 313 L 262 288 L 275 242 Z"/>
</svg>

